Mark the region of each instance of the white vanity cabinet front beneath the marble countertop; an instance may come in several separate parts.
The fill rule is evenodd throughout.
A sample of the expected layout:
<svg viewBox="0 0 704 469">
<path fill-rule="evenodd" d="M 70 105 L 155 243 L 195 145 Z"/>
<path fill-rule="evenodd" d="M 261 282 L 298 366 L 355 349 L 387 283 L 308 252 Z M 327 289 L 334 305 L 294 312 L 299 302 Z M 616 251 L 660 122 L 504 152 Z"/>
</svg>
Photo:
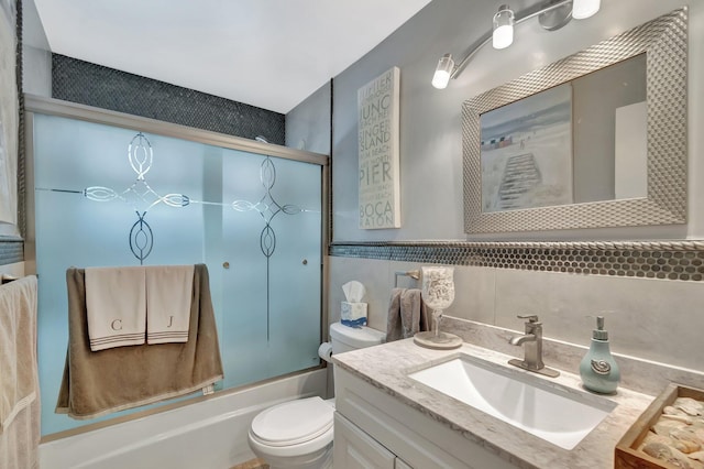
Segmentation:
<svg viewBox="0 0 704 469">
<path fill-rule="evenodd" d="M 509 469 L 460 432 L 334 367 L 334 467 Z"/>
</svg>

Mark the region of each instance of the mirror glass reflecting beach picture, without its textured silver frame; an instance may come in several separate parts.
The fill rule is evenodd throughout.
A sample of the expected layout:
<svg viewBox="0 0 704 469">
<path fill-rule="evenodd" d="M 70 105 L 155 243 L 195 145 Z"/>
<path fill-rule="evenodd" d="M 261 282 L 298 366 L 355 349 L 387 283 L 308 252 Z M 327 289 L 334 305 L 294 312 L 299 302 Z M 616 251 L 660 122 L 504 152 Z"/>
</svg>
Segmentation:
<svg viewBox="0 0 704 469">
<path fill-rule="evenodd" d="M 646 55 L 480 116 L 482 211 L 647 197 Z"/>
</svg>

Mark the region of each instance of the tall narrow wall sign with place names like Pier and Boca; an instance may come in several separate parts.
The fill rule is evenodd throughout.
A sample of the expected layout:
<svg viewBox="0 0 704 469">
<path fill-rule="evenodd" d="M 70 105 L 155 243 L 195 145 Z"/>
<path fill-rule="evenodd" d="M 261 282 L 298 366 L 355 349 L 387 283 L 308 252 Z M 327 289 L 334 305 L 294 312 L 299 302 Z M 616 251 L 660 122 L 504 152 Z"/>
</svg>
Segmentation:
<svg viewBox="0 0 704 469">
<path fill-rule="evenodd" d="M 398 67 L 358 91 L 360 228 L 400 228 Z"/>
</svg>

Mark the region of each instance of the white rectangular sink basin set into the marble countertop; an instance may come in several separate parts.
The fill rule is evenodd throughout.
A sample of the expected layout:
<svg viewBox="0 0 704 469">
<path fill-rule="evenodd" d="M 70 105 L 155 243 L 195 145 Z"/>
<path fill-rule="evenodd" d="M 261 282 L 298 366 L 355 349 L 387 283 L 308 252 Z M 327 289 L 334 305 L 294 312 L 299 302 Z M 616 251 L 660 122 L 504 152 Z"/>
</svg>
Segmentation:
<svg viewBox="0 0 704 469">
<path fill-rule="evenodd" d="M 408 377 L 564 449 L 574 448 L 616 407 L 607 399 L 463 353 Z"/>
</svg>

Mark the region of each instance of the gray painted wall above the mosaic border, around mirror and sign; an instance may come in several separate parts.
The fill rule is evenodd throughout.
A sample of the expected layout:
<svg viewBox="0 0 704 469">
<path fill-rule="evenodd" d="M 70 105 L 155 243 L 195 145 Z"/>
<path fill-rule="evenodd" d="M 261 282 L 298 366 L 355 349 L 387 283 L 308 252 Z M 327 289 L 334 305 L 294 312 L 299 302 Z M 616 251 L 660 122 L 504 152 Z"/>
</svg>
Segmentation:
<svg viewBox="0 0 704 469">
<path fill-rule="evenodd" d="M 675 0 L 603 0 L 595 17 L 572 21 L 546 32 L 535 20 L 516 28 L 515 43 L 503 51 L 484 47 L 444 90 L 430 86 L 438 58 L 446 52 L 461 57 L 491 26 L 498 1 L 435 0 L 358 63 L 334 77 L 333 116 L 333 239 L 388 240 L 561 240 L 561 239 L 674 239 L 704 234 L 704 220 L 690 210 L 688 226 L 465 236 L 462 222 L 463 100 L 499 86 L 532 69 L 573 54 L 598 41 L 682 7 Z M 690 12 L 690 126 L 702 122 L 704 90 L 704 34 L 702 2 Z M 524 2 L 525 4 L 525 2 Z M 400 68 L 400 229 L 358 228 L 356 90 L 392 66 Z M 301 103 L 295 113 L 304 111 Z M 292 113 L 290 116 L 294 116 Z M 289 122 L 293 118 L 289 118 Z M 293 124 L 293 122 L 290 123 Z M 704 135 L 690 134 L 690 154 L 704 149 Z M 704 201 L 701 162 L 690 165 L 690 207 Z M 701 211 L 701 210 L 698 210 Z"/>
</svg>

